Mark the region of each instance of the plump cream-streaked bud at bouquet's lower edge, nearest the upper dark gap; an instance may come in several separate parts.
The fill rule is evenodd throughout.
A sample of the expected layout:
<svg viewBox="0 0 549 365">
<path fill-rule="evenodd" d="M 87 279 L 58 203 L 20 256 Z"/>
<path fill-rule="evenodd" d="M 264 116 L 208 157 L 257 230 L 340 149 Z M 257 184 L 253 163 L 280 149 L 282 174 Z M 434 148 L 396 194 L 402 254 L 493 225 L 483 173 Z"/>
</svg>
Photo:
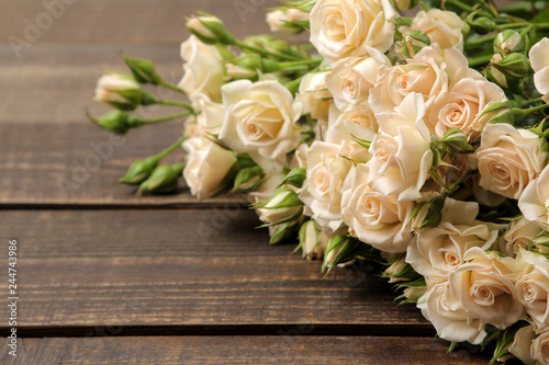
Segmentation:
<svg viewBox="0 0 549 365">
<path fill-rule="evenodd" d="M 259 210 L 259 219 L 267 225 L 280 225 L 301 217 L 303 203 L 298 194 L 291 189 L 279 189 L 267 202 L 256 204 Z"/>
</svg>

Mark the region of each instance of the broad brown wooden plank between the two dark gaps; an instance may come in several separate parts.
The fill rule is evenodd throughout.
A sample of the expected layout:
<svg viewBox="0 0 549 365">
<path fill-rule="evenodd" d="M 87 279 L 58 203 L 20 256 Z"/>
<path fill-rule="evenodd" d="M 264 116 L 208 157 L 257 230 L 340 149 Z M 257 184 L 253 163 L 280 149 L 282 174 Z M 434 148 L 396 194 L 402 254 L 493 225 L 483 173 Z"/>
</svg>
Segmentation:
<svg viewBox="0 0 549 365">
<path fill-rule="evenodd" d="M 291 254 L 293 244 L 269 247 L 254 212 L 2 210 L 0 223 L 0 242 L 18 240 L 20 329 L 171 326 L 200 333 L 304 323 L 434 333 L 415 307 L 393 303 L 385 280 L 351 269 L 323 277 L 320 262 Z"/>
</svg>

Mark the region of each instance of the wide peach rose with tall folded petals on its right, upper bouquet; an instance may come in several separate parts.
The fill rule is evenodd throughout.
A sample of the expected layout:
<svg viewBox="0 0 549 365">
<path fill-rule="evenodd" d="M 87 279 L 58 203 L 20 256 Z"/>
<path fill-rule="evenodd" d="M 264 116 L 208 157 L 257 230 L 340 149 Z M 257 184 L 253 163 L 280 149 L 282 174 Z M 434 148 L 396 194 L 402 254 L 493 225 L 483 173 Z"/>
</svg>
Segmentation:
<svg viewBox="0 0 549 365">
<path fill-rule="evenodd" d="M 391 112 L 410 93 L 423 95 L 427 113 L 448 91 L 457 70 L 467 68 L 466 56 L 456 48 L 425 47 L 405 65 L 380 69 L 369 103 L 376 113 Z"/>
</svg>

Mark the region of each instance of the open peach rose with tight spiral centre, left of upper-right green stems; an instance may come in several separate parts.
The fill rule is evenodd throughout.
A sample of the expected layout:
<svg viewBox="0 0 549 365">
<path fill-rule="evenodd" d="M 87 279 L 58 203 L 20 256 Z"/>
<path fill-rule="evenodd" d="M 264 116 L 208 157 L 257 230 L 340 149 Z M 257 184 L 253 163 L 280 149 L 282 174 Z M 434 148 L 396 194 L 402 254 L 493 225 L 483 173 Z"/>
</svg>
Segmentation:
<svg viewBox="0 0 549 365">
<path fill-rule="evenodd" d="M 462 68 L 456 72 L 448 93 L 433 106 L 427 117 L 429 130 L 442 137 L 448 129 L 457 128 L 474 140 L 489 122 L 480 118 L 484 109 L 506 100 L 498 85 L 473 69 Z"/>
</svg>

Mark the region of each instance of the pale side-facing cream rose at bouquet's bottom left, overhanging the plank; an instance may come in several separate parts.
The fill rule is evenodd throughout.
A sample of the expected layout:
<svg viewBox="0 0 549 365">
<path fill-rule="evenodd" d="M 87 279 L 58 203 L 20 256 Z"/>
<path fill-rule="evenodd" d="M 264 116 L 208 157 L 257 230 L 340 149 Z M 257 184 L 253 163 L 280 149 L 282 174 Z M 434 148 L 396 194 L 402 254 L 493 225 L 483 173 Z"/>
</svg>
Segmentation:
<svg viewBox="0 0 549 365">
<path fill-rule="evenodd" d="M 456 342 L 479 344 L 486 337 L 485 322 L 472 316 L 451 293 L 448 282 L 427 282 L 428 292 L 417 300 L 417 308 L 435 327 L 437 334 Z"/>
</svg>

